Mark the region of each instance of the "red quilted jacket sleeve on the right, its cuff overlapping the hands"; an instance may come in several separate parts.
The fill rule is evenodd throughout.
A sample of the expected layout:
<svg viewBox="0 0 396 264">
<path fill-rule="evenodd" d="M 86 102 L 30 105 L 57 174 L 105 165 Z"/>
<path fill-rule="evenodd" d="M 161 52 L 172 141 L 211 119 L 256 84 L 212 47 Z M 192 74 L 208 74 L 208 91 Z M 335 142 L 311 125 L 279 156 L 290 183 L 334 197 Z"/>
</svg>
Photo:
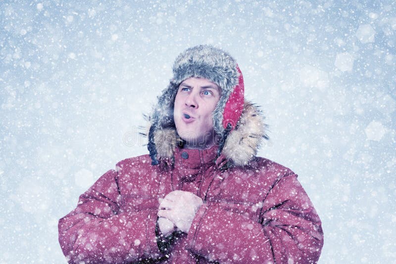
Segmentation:
<svg viewBox="0 0 396 264">
<path fill-rule="evenodd" d="M 263 198 L 254 220 L 218 203 L 201 206 L 189 230 L 189 249 L 218 263 L 317 263 L 321 222 L 297 175 L 278 179 Z"/>
</svg>

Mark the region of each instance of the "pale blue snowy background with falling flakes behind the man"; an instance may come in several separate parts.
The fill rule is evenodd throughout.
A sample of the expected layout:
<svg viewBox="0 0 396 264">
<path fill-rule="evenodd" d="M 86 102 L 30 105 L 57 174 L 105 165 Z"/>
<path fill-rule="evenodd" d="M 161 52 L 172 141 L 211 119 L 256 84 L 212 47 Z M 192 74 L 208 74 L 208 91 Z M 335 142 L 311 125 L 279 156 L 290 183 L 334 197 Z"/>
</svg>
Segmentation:
<svg viewBox="0 0 396 264">
<path fill-rule="evenodd" d="M 396 3 L 0 1 L 0 263 L 66 263 L 57 220 L 116 162 L 196 44 L 230 52 L 325 233 L 319 263 L 396 261 Z"/>
</svg>

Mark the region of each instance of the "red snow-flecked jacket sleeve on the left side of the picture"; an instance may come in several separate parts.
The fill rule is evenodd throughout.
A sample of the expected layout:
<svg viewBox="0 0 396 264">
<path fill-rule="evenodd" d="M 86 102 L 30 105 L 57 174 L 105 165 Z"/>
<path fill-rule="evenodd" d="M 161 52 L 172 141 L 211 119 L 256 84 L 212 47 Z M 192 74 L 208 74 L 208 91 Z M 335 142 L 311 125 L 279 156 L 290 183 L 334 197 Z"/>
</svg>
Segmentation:
<svg viewBox="0 0 396 264">
<path fill-rule="evenodd" d="M 117 172 L 110 170 L 79 198 L 58 223 L 59 243 L 69 263 L 125 263 L 160 258 L 155 210 L 126 212 L 119 206 Z"/>
</svg>

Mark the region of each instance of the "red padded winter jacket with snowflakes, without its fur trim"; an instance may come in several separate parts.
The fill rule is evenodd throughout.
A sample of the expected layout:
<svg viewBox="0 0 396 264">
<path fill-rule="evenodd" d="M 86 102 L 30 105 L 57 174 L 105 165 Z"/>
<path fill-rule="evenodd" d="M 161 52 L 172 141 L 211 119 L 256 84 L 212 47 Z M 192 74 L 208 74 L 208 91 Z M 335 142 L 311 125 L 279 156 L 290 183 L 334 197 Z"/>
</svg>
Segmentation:
<svg viewBox="0 0 396 264">
<path fill-rule="evenodd" d="M 119 162 L 59 220 L 69 263 L 316 263 L 321 222 L 297 175 L 260 157 L 230 167 L 213 161 L 216 150 L 176 148 L 173 166 L 148 155 Z M 158 199 L 173 190 L 204 204 L 188 234 L 164 239 Z"/>
</svg>

